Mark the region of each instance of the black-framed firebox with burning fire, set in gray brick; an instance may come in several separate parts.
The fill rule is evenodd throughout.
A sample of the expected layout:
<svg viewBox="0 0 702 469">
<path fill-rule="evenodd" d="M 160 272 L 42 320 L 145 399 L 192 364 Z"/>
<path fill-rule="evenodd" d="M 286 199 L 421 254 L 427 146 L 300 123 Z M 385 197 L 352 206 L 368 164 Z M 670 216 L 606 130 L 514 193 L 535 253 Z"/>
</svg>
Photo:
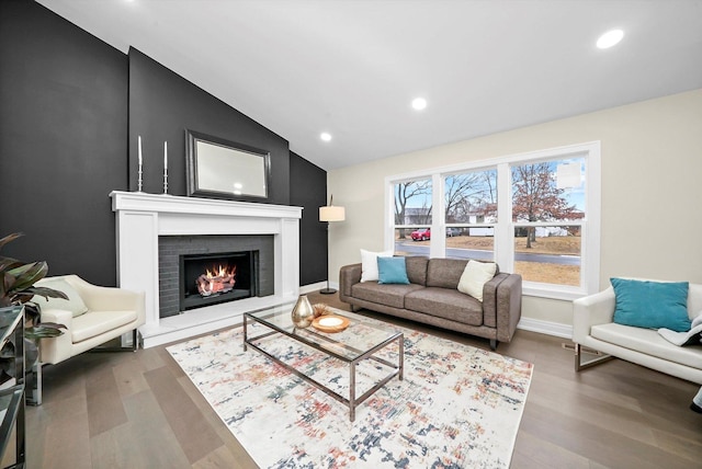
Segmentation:
<svg viewBox="0 0 702 469">
<path fill-rule="evenodd" d="M 180 255 L 180 310 L 258 296 L 258 251 Z"/>
</svg>

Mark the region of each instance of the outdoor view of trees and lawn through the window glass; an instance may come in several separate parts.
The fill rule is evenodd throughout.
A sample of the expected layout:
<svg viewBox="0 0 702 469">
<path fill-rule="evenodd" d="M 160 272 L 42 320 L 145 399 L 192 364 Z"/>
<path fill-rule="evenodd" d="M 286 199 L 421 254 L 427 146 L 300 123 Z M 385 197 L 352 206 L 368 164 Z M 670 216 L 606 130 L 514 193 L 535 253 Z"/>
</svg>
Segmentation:
<svg viewBox="0 0 702 469">
<path fill-rule="evenodd" d="M 446 258 L 495 261 L 502 245 L 511 253 L 512 271 L 524 281 L 580 286 L 586 163 L 585 157 L 505 163 L 503 170 L 443 174 L 434 180 L 441 187 L 432 187 L 431 178 L 394 183 L 395 252 L 429 255 L 433 236 L 445 240 Z M 498 174 L 511 178 L 511 194 L 498 194 Z M 439 220 L 433 219 L 434 190 L 443 195 Z M 499 196 L 509 203 L 499 205 Z M 500 207 L 511 213 L 498 213 Z M 432 221 L 445 231 L 432 233 Z M 506 249 L 496 229 L 508 221 L 513 243 Z"/>
</svg>

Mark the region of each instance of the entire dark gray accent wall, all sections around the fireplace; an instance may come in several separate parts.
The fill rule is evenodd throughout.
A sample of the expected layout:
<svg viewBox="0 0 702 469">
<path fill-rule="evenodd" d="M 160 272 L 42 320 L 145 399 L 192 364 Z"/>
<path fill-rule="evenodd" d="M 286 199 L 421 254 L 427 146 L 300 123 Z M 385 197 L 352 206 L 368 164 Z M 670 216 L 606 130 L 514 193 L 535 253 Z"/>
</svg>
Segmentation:
<svg viewBox="0 0 702 469">
<path fill-rule="evenodd" d="M 162 192 L 168 140 L 169 193 L 186 195 L 185 128 L 271 152 L 267 202 L 305 208 L 301 283 L 326 279 L 324 170 L 138 50 L 127 56 L 32 0 L 0 1 L 0 237 L 25 233 L 3 255 L 116 285 L 109 194 L 136 190 L 141 135 L 144 190 Z"/>
</svg>

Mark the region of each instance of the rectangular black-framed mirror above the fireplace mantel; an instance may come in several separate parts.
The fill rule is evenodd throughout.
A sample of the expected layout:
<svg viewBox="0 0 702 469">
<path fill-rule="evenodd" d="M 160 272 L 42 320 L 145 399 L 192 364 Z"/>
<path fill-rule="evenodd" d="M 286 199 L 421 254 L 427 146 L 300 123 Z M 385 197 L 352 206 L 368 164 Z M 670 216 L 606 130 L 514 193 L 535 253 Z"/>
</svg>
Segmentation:
<svg viewBox="0 0 702 469">
<path fill-rule="evenodd" d="M 265 150 L 185 130 L 188 195 L 268 198 L 271 162 Z"/>
</svg>

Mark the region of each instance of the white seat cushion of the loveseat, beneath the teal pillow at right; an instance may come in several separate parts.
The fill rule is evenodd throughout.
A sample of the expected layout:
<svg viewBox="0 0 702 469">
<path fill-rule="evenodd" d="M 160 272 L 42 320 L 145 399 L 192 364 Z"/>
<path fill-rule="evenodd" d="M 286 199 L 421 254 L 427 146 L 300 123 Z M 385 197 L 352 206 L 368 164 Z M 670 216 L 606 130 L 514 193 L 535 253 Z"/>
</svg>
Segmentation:
<svg viewBox="0 0 702 469">
<path fill-rule="evenodd" d="M 653 329 L 609 322 L 590 328 L 590 335 L 646 355 L 702 369 L 702 359 L 700 359 L 702 346 L 679 347 L 666 341 Z"/>
</svg>

